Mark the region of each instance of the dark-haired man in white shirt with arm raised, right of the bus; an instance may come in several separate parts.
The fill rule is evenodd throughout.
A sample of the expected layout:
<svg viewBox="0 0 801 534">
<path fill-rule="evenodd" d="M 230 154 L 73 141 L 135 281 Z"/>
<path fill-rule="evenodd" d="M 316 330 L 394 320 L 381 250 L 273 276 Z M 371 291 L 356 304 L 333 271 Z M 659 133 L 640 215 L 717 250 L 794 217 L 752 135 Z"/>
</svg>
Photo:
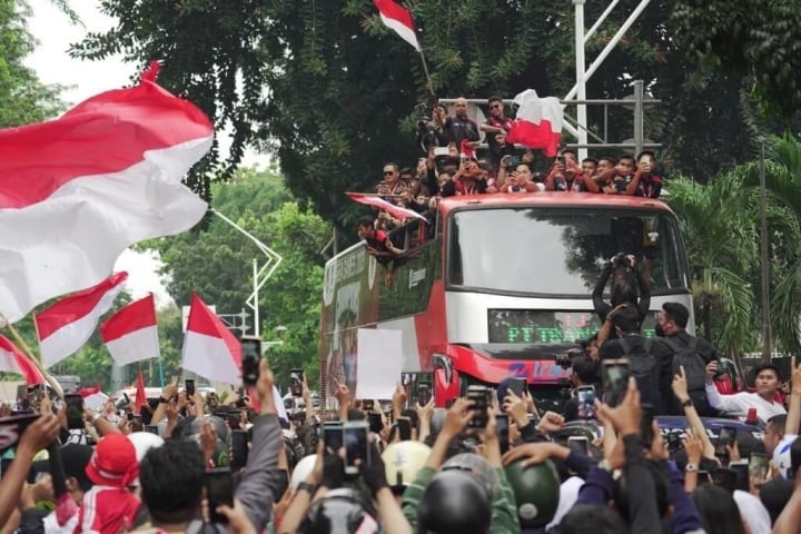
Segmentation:
<svg viewBox="0 0 801 534">
<path fill-rule="evenodd" d="M 706 365 L 706 398 L 713 408 L 735 415 L 741 419 L 745 419 L 750 408 L 756 408 L 756 417 L 762 422 L 767 422 L 774 415 L 787 414 L 784 406 L 777 402 L 779 368 L 773 364 L 762 364 L 754 369 L 755 393 L 741 392 L 734 395 L 721 395 L 713 380 L 716 370 L 718 362 Z"/>
</svg>

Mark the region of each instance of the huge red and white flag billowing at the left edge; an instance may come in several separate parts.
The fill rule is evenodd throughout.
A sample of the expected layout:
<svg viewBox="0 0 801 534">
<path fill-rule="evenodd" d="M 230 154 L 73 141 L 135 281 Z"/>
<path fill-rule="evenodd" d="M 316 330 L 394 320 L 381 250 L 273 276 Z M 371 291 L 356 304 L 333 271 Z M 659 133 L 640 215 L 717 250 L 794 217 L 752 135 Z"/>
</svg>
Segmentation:
<svg viewBox="0 0 801 534">
<path fill-rule="evenodd" d="M 0 130 L 0 314 L 108 277 L 130 245 L 195 226 L 207 205 L 181 184 L 211 146 L 197 107 L 156 85 L 107 91 L 61 118 Z"/>
</svg>

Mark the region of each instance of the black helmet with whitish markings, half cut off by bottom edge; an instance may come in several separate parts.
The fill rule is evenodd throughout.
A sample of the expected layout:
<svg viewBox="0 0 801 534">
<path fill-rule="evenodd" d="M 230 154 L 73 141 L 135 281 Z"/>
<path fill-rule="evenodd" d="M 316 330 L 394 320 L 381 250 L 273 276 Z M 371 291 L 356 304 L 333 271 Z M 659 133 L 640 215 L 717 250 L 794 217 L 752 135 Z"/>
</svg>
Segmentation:
<svg viewBox="0 0 801 534">
<path fill-rule="evenodd" d="M 370 515 L 357 491 L 332 490 L 306 513 L 298 527 L 301 534 L 377 533 L 378 522 Z"/>
</svg>

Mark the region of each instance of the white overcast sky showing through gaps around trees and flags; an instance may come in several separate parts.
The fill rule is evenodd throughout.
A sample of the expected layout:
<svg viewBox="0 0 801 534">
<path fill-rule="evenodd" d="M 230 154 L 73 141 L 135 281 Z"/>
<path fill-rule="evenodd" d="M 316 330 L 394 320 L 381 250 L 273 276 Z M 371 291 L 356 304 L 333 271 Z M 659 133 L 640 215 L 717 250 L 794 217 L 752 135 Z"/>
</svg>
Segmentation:
<svg viewBox="0 0 801 534">
<path fill-rule="evenodd" d="M 86 98 L 109 89 L 130 83 L 136 73 L 136 66 L 123 63 L 121 57 L 112 57 L 102 61 L 81 61 L 67 53 L 69 44 L 80 41 L 87 32 L 106 31 L 113 27 L 115 20 L 99 11 L 98 0 L 71 1 L 70 6 L 78 13 L 83 26 L 72 24 L 56 8 L 51 0 L 29 0 L 33 17 L 28 28 L 39 41 L 34 52 L 26 63 L 34 69 L 44 83 L 68 86 L 61 98 L 68 106 L 78 103 Z M 225 139 L 221 139 L 225 144 Z M 265 164 L 267 157 L 249 154 L 246 164 Z M 128 271 L 128 290 L 134 298 L 148 293 L 157 296 L 158 305 L 170 301 L 155 269 L 158 258 L 152 254 L 125 251 L 117 261 L 117 270 Z"/>
</svg>

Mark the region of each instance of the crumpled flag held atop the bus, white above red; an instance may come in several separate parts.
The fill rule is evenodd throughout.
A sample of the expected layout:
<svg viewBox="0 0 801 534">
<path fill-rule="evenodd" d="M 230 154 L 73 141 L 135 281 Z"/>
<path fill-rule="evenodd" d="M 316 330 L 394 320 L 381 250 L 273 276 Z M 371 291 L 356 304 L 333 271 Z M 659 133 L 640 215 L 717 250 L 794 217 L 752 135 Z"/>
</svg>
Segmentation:
<svg viewBox="0 0 801 534">
<path fill-rule="evenodd" d="M 540 98 L 534 89 L 526 89 L 514 98 L 517 116 L 506 136 L 506 142 L 540 148 L 553 158 L 562 138 L 563 109 L 556 97 Z"/>
</svg>

